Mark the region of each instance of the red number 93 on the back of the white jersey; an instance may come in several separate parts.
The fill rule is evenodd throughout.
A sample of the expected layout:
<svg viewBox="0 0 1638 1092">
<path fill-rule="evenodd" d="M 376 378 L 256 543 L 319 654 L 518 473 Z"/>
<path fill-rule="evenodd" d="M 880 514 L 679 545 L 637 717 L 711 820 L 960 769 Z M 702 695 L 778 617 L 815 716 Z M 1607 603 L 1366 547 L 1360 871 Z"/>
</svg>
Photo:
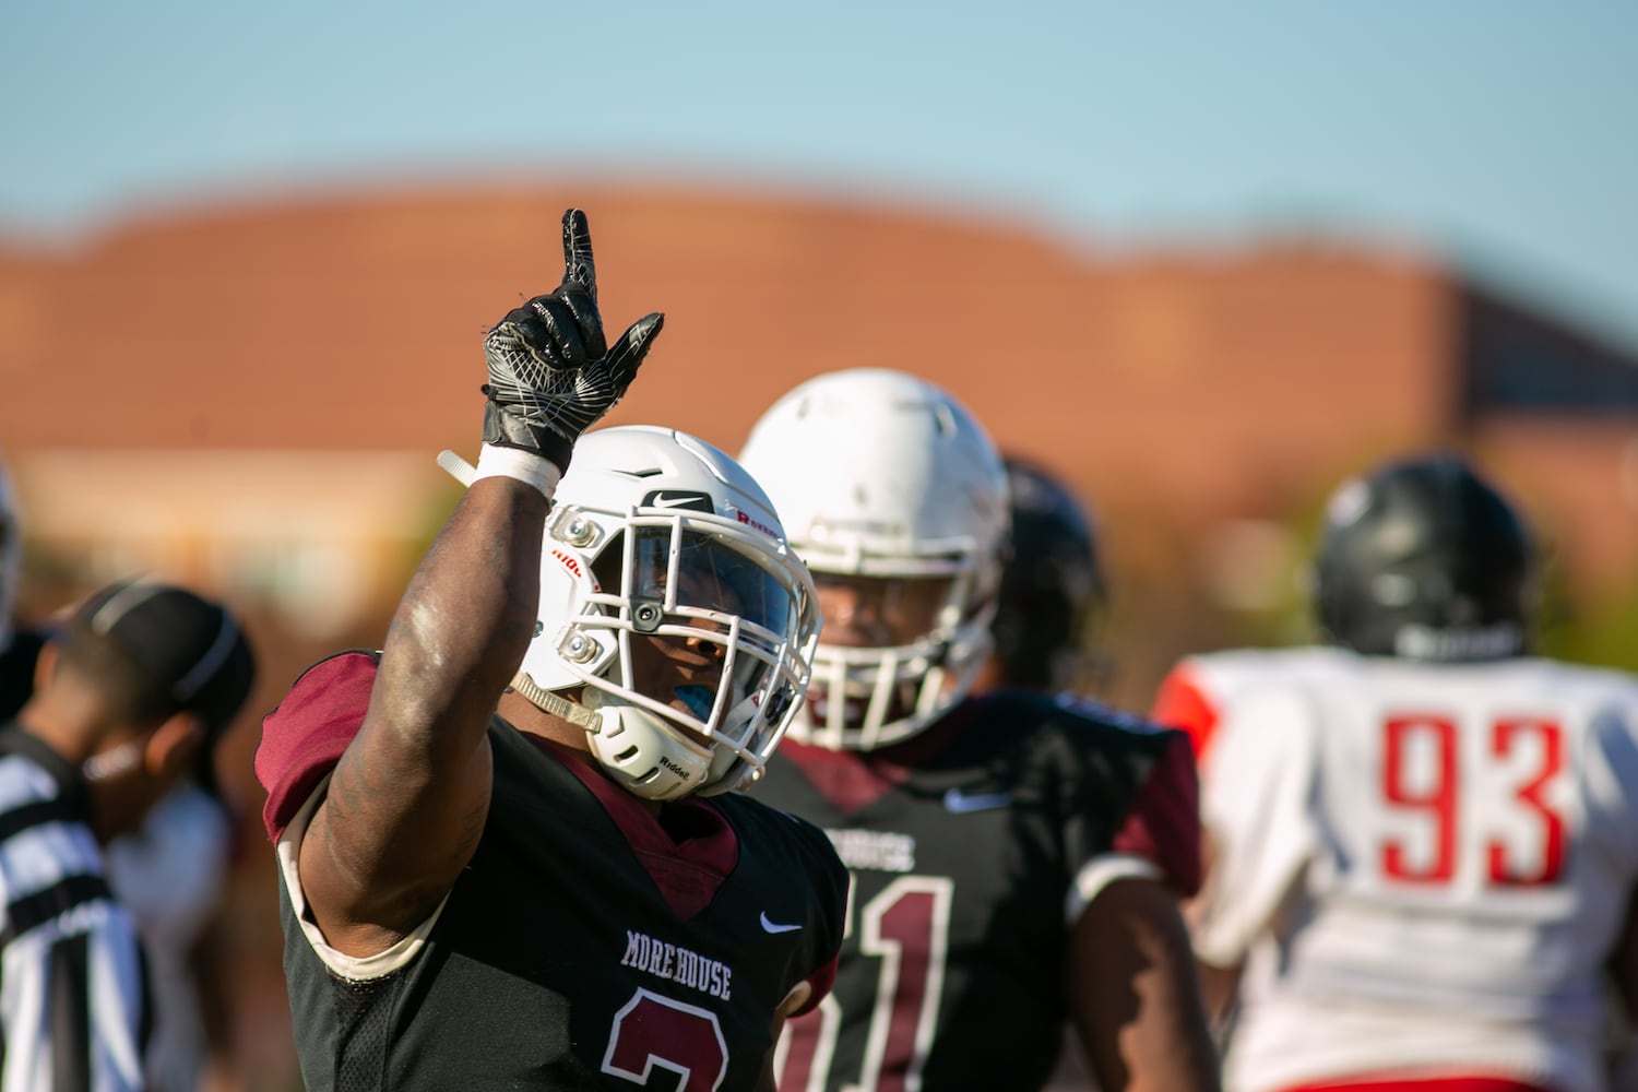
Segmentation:
<svg viewBox="0 0 1638 1092">
<path fill-rule="evenodd" d="M 1463 845 L 1463 786 L 1481 786 L 1476 778 L 1489 779 L 1494 768 L 1505 766 L 1505 771 L 1520 771 L 1504 783 L 1505 807 L 1525 815 L 1535 833 L 1522 835 L 1510 824 L 1514 842 L 1509 845 L 1499 833 L 1486 832 L 1486 879 L 1497 887 L 1556 882 L 1564 869 L 1564 817 L 1548 801 L 1548 789 L 1564 769 L 1564 733 L 1558 722 L 1530 717 L 1497 720 L 1489 727 L 1481 755 L 1469 760 L 1474 769 L 1461 768 L 1458 743 L 1456 722 L 1446 717 L 1391 717 L 1384 725 L 1382 799 L 1394 809 L 1427 817 L 1432 851 L 1423 850 L 1414 858 L 1402 842 L 1387 838 L 1382 842 L 1382 873 L 1407 884 L 1451 882 L 1458 846 Z M 1518 761 L 1525 765 L 1520 768 Z M 1525 837 L 1535 845 L 1523 845 Z M 1520 858 L 1532 860 L 1535 868 L 1527 871 Z"/>
</svg>

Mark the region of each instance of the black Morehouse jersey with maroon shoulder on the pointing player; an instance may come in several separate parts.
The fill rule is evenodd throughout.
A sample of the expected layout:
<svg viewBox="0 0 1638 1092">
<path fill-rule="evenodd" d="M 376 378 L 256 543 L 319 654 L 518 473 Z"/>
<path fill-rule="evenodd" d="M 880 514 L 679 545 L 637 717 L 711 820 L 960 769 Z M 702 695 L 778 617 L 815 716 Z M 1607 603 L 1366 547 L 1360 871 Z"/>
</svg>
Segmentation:
<svg viewBox="0 0 1638 1092">
<path fill-rule="evenodd" d="M 776 1007 L 803 981 L 811 1004 L 829 987 L 847 873 L 822 832 L 745 796 L 655 819 L 578 755 L 496 717 L 483 837 L 424 941 L 385 969 L 314 946 L 288 864 L 301 787 L 357 730 L 373 673 L 364 653 L 308 671 L 257 755 L 287 860 L 306 1087 L 753 1087 Z"/>
</svg>

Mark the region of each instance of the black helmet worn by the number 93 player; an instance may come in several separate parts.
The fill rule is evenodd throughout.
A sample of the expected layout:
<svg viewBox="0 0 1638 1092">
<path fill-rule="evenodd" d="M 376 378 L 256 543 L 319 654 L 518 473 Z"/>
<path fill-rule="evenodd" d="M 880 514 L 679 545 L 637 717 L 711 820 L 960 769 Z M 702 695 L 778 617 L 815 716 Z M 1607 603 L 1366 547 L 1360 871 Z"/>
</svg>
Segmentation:
<svg viewBox="0 0 1638 1092">
<path fill-rule="evenodd" d="M 1523 521 L 1459 455 L 1391 462 L 1343 483 L 1327 504 L 1319 620 L 1366 655 L 1518 655 L 1533 570 Z"/>
</svg>

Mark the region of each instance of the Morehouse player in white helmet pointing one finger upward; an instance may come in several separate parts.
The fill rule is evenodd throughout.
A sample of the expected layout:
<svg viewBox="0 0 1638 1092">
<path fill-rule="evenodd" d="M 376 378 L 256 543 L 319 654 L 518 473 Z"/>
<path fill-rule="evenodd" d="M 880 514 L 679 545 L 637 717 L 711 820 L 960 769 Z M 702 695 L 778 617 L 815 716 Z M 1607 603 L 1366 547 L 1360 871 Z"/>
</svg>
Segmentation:
<svg viewBox="0 0 1638 1092">
<path fill-rule="evenodd" d="M 732 458 L 586 432 L 660 316 L 604 341 L 578 210 L 563 259 L 485 339 L 482 455 L 441 460 L 470 485 L 383 650 L 264 724 L 314 1090 L 768 1087 L 830 984 L 847 873 L 729 791 L 799 706 L 812 584 Z"/>
</svg>

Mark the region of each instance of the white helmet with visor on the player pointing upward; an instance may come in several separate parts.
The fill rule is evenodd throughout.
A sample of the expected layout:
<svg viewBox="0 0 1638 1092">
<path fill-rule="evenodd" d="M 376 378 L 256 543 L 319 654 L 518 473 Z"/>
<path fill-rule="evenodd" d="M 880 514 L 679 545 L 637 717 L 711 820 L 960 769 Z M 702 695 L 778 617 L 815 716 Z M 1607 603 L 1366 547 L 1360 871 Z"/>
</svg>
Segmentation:
<svg viewBox="0 0 1638 1092">
<path fill-rule="evenodd" d="M 716 447 L 654 426 L 575 444 L 537 617 L 513 689 L 585 727 L 596 761 L 654 801 L 760 778 L 819 637 L 812 580 L 762 488 Z M 655 693 L 632 655 L 644 637 L 721 648 L 721 683 Z"/>
</svg>

